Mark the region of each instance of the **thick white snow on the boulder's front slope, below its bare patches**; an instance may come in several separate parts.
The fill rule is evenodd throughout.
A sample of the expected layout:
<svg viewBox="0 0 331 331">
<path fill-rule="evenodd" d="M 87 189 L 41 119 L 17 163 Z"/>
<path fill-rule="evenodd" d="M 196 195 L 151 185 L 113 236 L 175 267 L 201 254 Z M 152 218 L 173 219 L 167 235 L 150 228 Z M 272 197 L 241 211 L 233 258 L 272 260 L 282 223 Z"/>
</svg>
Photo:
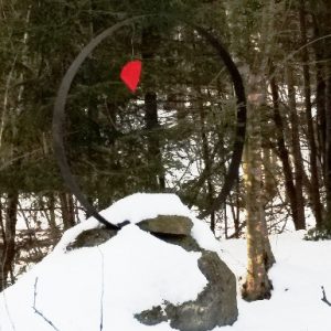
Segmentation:
<svg viewBox="0 0 331 331">
<path fill-rule="evenodd" d="M 104 330 L 140 330 L 134 313 L 164 300 L 180 303 L 196 298 L 206 285 L 199 257 L 200 253 L 188 253 L 128 225 L 98 247 L 45 259 L 6 290 L 9 314 L 15 330 L 26 330 L 26 324 L 34 331 L 52 330 L 32 310 L 38 277 L 38 308 L 58 330 L 98 330 L 102 297 Z M 0 312 L 2 317 L 2 307 Z M 11 330 L 6 318 L 0 325 Z"/>
</svg>

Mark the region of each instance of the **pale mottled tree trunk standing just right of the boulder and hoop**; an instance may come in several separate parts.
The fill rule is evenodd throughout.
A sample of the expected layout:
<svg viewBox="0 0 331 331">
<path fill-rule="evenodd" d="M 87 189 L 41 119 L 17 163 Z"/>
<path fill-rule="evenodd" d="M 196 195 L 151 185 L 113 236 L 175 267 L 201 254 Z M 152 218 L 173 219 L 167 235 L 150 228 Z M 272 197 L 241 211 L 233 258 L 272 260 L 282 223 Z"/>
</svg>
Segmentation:
<svg viewBox="0 0 331 331">
<path fill-rule="evenodd" d="M 244 181 L 246 188 L 246 239 L 247 239 L 247 276 L 243 285 L 243 297 L 247 301 L 268 299 L 271 296 L 273 284 L 268 278 L 268 270 L 275 263 L 273 255 L 266 216 L 266 196 L 263 179 L 263 135 L 261 126 L 266 110 L 266 82 L 264 73 L 267 67 L 267 56 L 271 42 L 270 2 L 264 9 L 260 38 L 260 53 L 264 61 L 258 65 L 258 54 L 252 66 L 248 82 L 248 130 L 244 152 Z M 270 171 L 268 169 L 268 171 Z"/>
</svg>

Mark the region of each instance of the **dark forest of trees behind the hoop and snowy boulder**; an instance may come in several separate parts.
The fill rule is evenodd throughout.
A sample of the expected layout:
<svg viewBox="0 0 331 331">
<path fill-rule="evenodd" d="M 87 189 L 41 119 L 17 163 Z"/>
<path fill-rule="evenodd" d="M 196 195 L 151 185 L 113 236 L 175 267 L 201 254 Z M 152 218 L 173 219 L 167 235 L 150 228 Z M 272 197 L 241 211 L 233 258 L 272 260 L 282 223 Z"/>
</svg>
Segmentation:
<svg viewBox="0 0 331 331">
<path fill-rule="evenodd" d="M 331 232 L 331 7 L 328 0 L 44 0 L 0 2 L 0 290 L 78 222 L 51 125 L 63 75 L 89 40 L 143 15 L 84 62 L 66 107 L 66 154 L 97 210 L 135 192 L 171 192 L 221 237 L 312 220 Z M 154 15 L 157 14 L 157 15 Z M 173 18 L 173 20 L 171 19 Z M 226 203 L 236 128 L 222 41 L 243 75 L 248 120 Z M 142 61 L 136 94 L 119 79 Z"/>
</svg>

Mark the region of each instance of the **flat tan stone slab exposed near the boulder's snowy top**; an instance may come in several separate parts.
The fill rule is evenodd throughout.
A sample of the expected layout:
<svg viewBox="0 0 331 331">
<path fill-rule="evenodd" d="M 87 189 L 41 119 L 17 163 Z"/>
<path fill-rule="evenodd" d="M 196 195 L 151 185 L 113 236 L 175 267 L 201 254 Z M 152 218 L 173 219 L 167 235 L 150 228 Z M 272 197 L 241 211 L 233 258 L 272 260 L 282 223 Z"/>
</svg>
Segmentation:
<svg viewBox="0 0 331 331">
<path fill-rule="evenodd" d="M 156 218 L 143 220 L 137 225 L 153 234 L 190 235 L 193 222 L 185 216 L 159 215 Z"/>
</svg>

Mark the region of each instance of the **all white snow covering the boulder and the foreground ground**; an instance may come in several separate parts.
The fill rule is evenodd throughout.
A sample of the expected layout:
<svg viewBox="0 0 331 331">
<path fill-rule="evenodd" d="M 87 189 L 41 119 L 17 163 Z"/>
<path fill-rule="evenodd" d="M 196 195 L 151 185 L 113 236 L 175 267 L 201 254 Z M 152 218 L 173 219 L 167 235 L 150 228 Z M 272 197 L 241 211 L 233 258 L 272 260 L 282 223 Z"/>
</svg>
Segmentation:
<svg viewBox="0 0 331 331">
<path fill-rule="evenodd" d="M 89 218 L 70 229 L 51 255 L 0 295 L 0 331 L 173 330 L 166 322 L 142 325 L 132 316 L 164 300 L 194 299 L 206 284 L 197 268 L 200 254 L 161 242 L 135 223 L 190 211 L 172 194 L 136 194 L 103 214 L 114 223 L 132 224 L 98 247 L 65 253 L 67 243 L 97 222 Z M 245 276 L 245 241 L 217 242 L 204 223 L 193 221 L 200 245 L 217 250 L 238 279 Z M 331 301 L 331 242 L 306 242 L 302 236 L 270 238 L 277 260 L 269 273 L 271 299 L 248 303 L 238 292 L 237 322 L 214 331 L 331 330 L 331 307 L 321 300 L 323 286 Z"/>
</svg>

